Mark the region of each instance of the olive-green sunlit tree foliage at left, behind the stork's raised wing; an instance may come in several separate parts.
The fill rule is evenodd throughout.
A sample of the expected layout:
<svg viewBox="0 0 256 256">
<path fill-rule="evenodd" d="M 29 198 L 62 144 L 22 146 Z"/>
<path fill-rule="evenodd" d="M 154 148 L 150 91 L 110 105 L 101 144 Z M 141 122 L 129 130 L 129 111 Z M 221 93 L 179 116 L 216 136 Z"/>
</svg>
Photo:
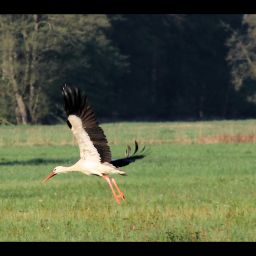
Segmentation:
<svg viewBox="0 0 256 256">
<path fill-rule="evenodd" d="M 105 35 L 105 15 L 1 15 L 0 24 L 2 77 L 9 84 L 6 94 L 16 95 L 13 105 L 23 123 L 56 122 L 60 85 L 82 84 L 89 94 L 106 91 L 125 67 Z"/>
</svg>

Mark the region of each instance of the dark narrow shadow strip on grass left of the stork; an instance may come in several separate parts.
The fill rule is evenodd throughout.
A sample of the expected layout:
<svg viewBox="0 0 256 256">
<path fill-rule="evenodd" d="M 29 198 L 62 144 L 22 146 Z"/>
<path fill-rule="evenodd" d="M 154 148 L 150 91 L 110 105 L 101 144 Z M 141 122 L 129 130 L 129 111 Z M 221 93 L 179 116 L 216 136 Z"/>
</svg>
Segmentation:
<svg viewBox="0 0 256 256">
<path fill-rule="evenodd" d="M 69 162 L 74 162 L 74 159 L 45 159 L 45 158 L 34 158 L 29 160 L 5 160 L 1 159 L 0 166 L 7 165 L 45 165 L 45 164 L 65 164 Z"/>
</svg>

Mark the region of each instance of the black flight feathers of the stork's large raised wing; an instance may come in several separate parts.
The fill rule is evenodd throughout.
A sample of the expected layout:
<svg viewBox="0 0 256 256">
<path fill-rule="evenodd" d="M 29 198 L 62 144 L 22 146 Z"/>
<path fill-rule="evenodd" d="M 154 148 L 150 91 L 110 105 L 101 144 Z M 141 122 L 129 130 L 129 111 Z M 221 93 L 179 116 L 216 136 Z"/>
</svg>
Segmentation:
<svg viewBox="0 0 256 256">
<path fill-rule="evenodd" d="M 67 114 L 76 115 L 82 120 L 83 128 L 89 135 L 94 147 L 99 152 L 101 162 L 111 161 L 111 151 L 106 136 L 96 120 L 95 114 L 88 104 L 87 97 L 82 95 L 77 87 L 62 87 L 64 108 Z M 72 128 L 67 120 L 69 128 Z"/>
</svg>

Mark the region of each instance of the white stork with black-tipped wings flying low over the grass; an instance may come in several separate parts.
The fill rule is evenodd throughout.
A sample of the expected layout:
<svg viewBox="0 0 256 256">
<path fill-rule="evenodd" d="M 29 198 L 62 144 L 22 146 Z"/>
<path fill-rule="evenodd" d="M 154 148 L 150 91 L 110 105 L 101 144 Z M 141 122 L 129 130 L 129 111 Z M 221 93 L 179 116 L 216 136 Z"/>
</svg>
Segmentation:
<svg viewBox="0 0 256 256">
<path fill-rule="evenodd" d="M 107 181 L 115 200 L 120 204 L 121 199 L 125 199 L 124 193 L 118 187 L 115 179 L 109 177 L 109 175 L 125 175 L 126 173 L 120 167 L 143 158 L 145 147 L 138 153 L 138 143 L 135 141 L 135 149 L 132 155 L 130 155 L 131 148 L 128 146 L 125 158 L 112 160 L 108 141 L 102 128 L 98 125 L 95 114 L 88 104 L 87 97 L 78 88 L 67 85 L 62 87 L 62 94 L 67 114 L 67 124 L 79 145 L 80 160 L 69 167 L 55 167 L 44 179 L 44 182 L 57 174 L 74 171 L 86 175 L 97 175 Z"/>
</svg>

